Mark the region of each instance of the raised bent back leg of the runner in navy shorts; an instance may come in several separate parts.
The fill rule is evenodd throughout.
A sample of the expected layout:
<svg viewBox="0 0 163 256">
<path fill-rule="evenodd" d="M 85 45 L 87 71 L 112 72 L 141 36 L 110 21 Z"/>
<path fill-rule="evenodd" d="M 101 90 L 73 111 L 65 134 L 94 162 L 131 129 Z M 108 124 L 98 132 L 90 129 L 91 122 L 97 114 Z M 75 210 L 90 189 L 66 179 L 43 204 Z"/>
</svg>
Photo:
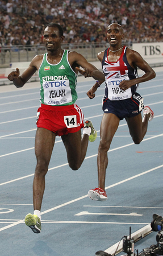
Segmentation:
<svg viewBox="0 0 163 256">
<path fill-rule="evenodd" d="M 136 115 L 136 117 L 126 118 L 129 133 L 135 144 L 139 144 L 143 140 L 145 134 L 147 133 L 149 117 L 150 113 L 145 114 L 142 121 L 140 113 L 139 115 Z"/>
</svg>

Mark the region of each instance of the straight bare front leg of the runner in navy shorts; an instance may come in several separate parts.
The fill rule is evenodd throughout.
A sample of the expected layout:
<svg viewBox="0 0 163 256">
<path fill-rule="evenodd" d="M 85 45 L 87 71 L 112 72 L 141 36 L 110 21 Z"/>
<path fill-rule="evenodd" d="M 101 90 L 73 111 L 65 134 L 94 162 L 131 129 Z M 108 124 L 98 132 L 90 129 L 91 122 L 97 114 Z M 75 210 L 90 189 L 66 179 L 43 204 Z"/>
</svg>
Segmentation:
<svg viewBox="0 0 163 256">
<path fill-rule="evenodd" d="M 112 138 L 119 126 L 119 118 L 116 115 L 108 113 L 103 114 L 100 137 L 101 141 L 98 147 L 98 187 L 105 190 L 105 176 L 108 164 L 107 151 L 110 148 Z"/>
</svg>

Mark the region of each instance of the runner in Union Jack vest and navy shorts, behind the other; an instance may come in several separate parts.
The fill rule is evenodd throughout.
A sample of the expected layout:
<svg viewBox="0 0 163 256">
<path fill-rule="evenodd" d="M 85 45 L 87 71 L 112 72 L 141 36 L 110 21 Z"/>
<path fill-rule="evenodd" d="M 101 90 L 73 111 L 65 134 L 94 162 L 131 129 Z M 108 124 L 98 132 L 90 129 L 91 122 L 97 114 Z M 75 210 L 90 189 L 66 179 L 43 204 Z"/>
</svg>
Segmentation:
<svg viewBox="0 0 163 256">
<path fill-rule="evenodd" d="M 103 97 L 103 118 L 101 122 L 101 141 L 98 148 L 98 188 L 88 193 L 90 199 L 105 201 L 105 175 L 108 164 L 107 151 L 119 121 L 126 119 L 129 133 L 135 144 L 139 144 L 147 133 L 148 121 L 154 117 L 152 110 L 143 105 L 143 98 L 136 92 L 139 83 L 153 79 L 156 75 L 148 63 L 136 51 L 122 45 L 124 32 L 122 26 L 112 23 L 107 27 L 107 40 L 110 48 L 98 53 L 102 63 L 105 80 L 97 81 L 87 92 L 89 98 L 95 97 L 95 91 L 105 81 Z M 144 75 L 137 76 L 137 67 Z M 143 109 L 143 120 L 141 110 Z"/>
</svg>

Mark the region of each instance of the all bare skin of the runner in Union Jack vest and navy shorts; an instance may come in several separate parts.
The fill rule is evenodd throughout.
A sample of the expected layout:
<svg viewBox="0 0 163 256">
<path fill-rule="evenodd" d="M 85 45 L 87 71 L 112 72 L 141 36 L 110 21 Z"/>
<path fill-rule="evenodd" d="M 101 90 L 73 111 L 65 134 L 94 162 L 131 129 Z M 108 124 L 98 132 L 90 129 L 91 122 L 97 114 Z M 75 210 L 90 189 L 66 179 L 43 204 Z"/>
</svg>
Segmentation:
<svg viewBox="0 0 163 256">
<path fill-rule="evenodd" d="M 107 27 L 107 40 L 110 44 L 110 51 L 108 51 L 107 59 L 111 63 L 115 63 L 119 60 L 120 55 L 123 51 L 122 39 L 124 38 L 123 27 L 117 23 L 112 23 Z M 98 53 L 98 59 L 102 62 L 105 51 Z M 124 80 L 120 82 L 119 88 L 122 90 L 127 90 L 132 85 L 139 84 L 140 82 L 145 82 L 153 79 L 156 74 L 153 69 L 148 65 L 148 63 L 141 57 L 141 55 L 133 51 L 130 48 L 127 48 L 126 52 L 127 60 L 129 65 L 132 68 L 140 68 L 144 71 L 144 75 L 132 80 Z M 100 84 L 104 82 L 105 79 L 99 81 Z M 96 82 L 91 89 L 87 92 L 87 96 L 90 99 L 95 97 L 95 92 L 98 88 L 98 83 Z M 129 128 L 129 133 L 132 137 L 132 140 L 135 144 L 139 144 L 145 134 L 147 133 L 148 120 L 150 117 L 149 114 L 145 114 L 145 117 L 142 121 L 141 113 L 135 117 L 126 118 L 127 125 Z M 108 165 L 108 156 L 107 152 L 110 148 L 112 138 L 116 130 L 118 129 L 120 119 L 112 113 L 104 113 L 101 128 L 100 128 L 100 137 L 101 141 L 98 147 L 98 188 L 105 190 L 105 177 L 106 177 L 106 168 Z"/>
</svg>

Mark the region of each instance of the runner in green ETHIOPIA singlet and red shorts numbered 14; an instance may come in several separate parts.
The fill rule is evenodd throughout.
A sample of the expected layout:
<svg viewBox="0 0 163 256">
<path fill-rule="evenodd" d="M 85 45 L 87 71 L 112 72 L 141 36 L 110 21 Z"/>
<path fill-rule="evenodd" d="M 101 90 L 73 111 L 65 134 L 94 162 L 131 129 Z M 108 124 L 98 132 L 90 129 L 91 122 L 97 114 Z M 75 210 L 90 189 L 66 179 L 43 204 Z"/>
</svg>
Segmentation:
<svg viewBox="0 0 163 256">
<path fill-rule="evenodd" d="M 83 123 L 82 110 L 75 103 L 77 73 L 79 71 L 85 77 L 92 76 L 95 80 L 105 79 L 103 73 L 88 63 L 81 54 L 61 48 L 64 35 L 60 25 L 50 23 L 45 27 L 43 40 L 47 53 L 36 55 L 21 76 L 18 68 L 8 76 L 8 79 L 20 88 L 38 71 L 41 83 L 41 107 L 37 111 L 35 138 L 37 164 L 33 183 L 34 214 L 29 213 L 25 218 L 26 225 L 30 226 L 34 233 L 41 232 L 40 210 L 45 189 L 45 175 L 56 135 L 62 138 L 72 170 L 81 167 L 89 140 L 94 141 L 97 137 L 97 131 L 91 121 L 87 120 L 85 124 Z"/>
</svg>

